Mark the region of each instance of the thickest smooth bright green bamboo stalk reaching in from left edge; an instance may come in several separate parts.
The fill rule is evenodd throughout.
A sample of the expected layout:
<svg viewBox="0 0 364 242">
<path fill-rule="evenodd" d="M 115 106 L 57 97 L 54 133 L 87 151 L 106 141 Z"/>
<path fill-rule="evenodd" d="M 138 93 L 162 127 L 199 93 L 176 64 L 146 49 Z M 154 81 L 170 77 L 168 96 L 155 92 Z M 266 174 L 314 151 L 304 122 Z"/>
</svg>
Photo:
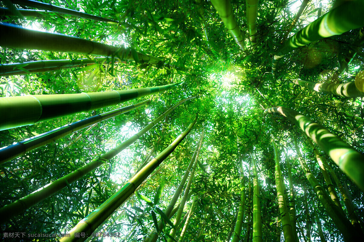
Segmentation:
<svg viewBox="0 0 364 242">
<path fill-rule="evenodd" d="M 96 93 L 27 95 L 0 98 L 0 130 L 32 125 L 50 119 L 114 106 L 135 98 L 171 89 L 181 83 Z"/>
</svg>

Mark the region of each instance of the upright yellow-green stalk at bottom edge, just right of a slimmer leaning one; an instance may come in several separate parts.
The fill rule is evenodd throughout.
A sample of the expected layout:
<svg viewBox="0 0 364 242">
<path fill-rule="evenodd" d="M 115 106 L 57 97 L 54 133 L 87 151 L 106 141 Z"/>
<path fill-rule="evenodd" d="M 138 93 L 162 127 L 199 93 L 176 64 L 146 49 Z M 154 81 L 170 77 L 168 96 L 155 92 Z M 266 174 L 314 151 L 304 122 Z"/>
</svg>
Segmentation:
<svg viewBox="0 0 364 242">
<path fill-rule="evenodd" d="M 253 242 L 263 242 L 263 234 L 262 234 L 262 212 L 260 209 L 260 192 L 259 192 L 259 179 L 257 173 L 257 167 L 254 158 L 252 157 L 253 162 L 253 185 L 254 185 L 254 193 L 253 193 Z"/>
</svg>

